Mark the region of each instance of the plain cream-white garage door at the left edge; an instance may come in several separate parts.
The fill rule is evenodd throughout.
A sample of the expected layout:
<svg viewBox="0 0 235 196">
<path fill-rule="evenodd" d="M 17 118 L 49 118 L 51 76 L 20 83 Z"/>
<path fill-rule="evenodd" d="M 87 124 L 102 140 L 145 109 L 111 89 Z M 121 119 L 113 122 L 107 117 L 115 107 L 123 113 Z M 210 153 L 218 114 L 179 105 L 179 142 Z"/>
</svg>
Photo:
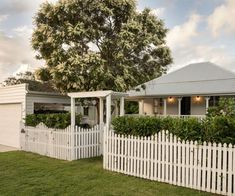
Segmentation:
<svg viewBox="0 0 235 196">
<path fill-rule="evenodd" d="M 21 104 L 0 104 L 0 144 L 20 147 Z"/>
</svg>

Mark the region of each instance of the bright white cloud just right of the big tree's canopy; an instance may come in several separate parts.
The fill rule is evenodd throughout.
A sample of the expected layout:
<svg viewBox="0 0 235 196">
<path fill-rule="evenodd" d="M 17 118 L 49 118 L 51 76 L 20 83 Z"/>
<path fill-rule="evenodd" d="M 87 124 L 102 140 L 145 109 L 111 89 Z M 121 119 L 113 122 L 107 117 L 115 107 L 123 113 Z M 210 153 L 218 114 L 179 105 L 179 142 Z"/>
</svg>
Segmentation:
<svg viewBox="0 0 235 196">
<path fill-rule="evenodd" d="M 201 18 L 200 15 L 194 13 L 184 24 L 173 27 L 167 34 L 167 45 L 171 48 L 188 45 L 191 39 L 198 35 L 198 24 Z"/>
</svg>

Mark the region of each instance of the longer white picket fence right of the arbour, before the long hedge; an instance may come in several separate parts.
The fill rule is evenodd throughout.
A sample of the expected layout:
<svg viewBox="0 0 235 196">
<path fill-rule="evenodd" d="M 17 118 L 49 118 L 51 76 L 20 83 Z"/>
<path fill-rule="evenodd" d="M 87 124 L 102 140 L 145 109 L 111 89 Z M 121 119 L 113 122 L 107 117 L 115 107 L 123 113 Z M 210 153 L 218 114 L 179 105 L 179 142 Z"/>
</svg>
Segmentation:
<svg viewBox="0 0 235 196">
<path fill-rule="evenodd" d="M 235 148 L 180 141 L 162 131 L 134 137 L 105 130 L 105 169 L 192 189 L 235 195 Z"/>
</svg>

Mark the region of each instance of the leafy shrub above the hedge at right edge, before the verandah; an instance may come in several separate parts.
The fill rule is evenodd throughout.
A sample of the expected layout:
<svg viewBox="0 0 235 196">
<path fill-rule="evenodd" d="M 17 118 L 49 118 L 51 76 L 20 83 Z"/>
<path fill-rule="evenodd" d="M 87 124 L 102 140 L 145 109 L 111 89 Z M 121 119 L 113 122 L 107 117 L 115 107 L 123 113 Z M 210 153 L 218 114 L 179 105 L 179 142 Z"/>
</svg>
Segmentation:
<svg viewBox="0 0 235 196">
<path fill-rule="evenodd" d="M 231 116 L 235 117 L 235 98 L 220 97 L 218 106 L 209 107 L 207 116 Z"/>
</svg>

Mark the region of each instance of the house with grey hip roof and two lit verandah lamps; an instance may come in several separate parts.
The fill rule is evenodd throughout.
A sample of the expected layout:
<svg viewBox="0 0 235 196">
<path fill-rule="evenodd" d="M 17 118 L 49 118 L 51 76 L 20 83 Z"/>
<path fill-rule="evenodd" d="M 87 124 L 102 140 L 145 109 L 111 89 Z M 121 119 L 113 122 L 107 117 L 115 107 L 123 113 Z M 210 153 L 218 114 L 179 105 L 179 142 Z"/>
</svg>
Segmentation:
<svg viewBox="0 0 235 196">
<path fill-rule="evenodd" d="M 213 63 L 195 63 L 137 86 L 129 100 L 139 114 L 203 116 L 219 97 L 235 96 L 235 73 Z"/>
</svg>

